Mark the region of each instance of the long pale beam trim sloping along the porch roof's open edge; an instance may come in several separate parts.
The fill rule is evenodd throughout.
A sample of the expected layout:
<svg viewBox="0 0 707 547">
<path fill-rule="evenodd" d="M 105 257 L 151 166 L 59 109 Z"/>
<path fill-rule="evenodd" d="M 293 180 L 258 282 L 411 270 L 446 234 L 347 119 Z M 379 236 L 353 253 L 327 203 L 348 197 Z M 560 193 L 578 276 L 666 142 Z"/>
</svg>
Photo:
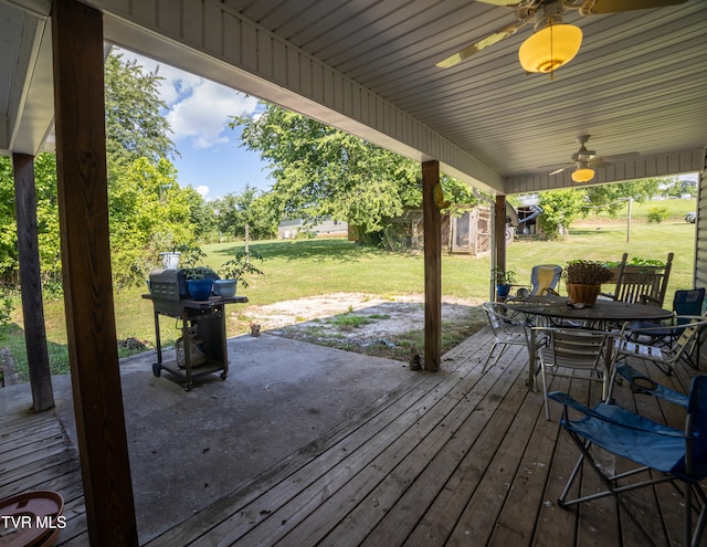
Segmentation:
<svg viewBox="0 0 707 547">
<path fill-rule="evenodd" d="M 502 192 L 503 177 L 451 140 L 341 73 L 210 0 L 160 10 L 154 1 L 86 0 L 104 13 L 105 39 L 310 116 L 476 188 Z M 208 29 L 208 32 L 207 32 Z"/>
</svg>

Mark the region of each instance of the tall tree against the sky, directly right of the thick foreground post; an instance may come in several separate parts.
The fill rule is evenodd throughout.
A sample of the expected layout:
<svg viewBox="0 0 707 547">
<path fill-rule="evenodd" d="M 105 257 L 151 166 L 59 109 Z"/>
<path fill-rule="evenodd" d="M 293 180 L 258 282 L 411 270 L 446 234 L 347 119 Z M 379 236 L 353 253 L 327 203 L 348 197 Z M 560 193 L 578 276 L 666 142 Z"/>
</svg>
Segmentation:
<svg viewBox="0 0 707 547">
<path fill-rule="evenodd" d="M 157 162 L 173 158 L 169 122 L 161 115 L 167 104 L 159 98 L 156 72 L 145 74 L 136 61 L 112 53 L 105 64 L 106 151 L 110 173 L 140 157 Z"/>
</svg>

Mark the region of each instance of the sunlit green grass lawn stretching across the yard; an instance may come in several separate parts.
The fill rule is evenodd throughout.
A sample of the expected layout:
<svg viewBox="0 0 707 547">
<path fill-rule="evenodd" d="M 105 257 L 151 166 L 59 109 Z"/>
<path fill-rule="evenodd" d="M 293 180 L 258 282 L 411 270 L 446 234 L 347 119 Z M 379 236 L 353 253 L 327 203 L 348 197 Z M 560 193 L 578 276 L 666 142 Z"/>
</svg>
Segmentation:
<svg viewBox="0 0 707 547">
<path fill-rule="evenodd" d="M 694 201 L 666 200 L 658 206 L 678 203 L 694 209 Z M 656 202 L 652 202 L 653 206 Z M 571 259 L 601 261 L 620 260 L 623 252 L 631 257 L 665 260 L 668 251 L 675 253 L 668 295 L 677 288 L 692 288 L 695 254 L 695 225 L 682 220 L 684 212 L 661 224 L 641 221 L 634 206 L 630 242 L 626 241 L 625 220 L 594 218 L 578 223 L 564 241 L 519 240 L 508 245 L 507 267 L 518 278 L 530 280 L 530 269 L 539 263 L 564 265 Z M 643 204 L 645 206 L 645 204 Z M 643 207 L 642 206 L 642 207 Z M 646 208 L 647 210 L 647 208 Z M 676 209 L 677 211 L 677 209 Z M 687 212 L 687 211 L 685 211 Z M 242 244 L 220 243 L 204 245 L 207 264 L 218 270 Z M 306 296 L 329 293 L 363 293 L 377 297 L 421 294 L 424 291 L 423 257 L 420 254 L 391 254 L 379 249 L 363 248 L 341 239 L 278 240 L 251 243 L 251 250 L 263 255 L 260 265 L 265 275 L 252 277 L 247 290 L 239 292 L 249 297 L 249 305 L 230 306 L 228 335 L 244 334 L 250 329 L 249 306 L 265 305 Z M 444 255 L 442 257 L 442 294 L 446 297 L 483 302 L 490 296 L 489 256 Z M 141 298 L 145 286 L 125 288 L 115 294 L 118 339 L 136 337 L 155 346 L 152 309 Z M 667 304 L 669 305 L 668 296 Z M 46 335 L 52 355 L 53 370 L 67 370 L 66 326 L 63 299 L 45 298 Z M 165 345 L 179 336 L 173 319 L 161 319 Z M 21 378 L 27 379 L 27 357 L 22 337 L 21 307 L 15 301 L 13 323 L 0 328 L 0 346 L 9 347 Z M 420 341 L 411 343 L 421 345 Z M 122 353 L 123 356 L 127 353 Z"/>
</svg>

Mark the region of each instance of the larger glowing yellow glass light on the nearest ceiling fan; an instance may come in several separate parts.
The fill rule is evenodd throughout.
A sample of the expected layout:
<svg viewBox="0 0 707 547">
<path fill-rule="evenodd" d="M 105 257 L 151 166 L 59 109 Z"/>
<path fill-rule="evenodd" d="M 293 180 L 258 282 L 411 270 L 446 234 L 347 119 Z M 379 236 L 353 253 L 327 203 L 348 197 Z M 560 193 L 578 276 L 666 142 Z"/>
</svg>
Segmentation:
<svg viewBox="0 0 707 547">
<path fill-rule="evenodd" d="M 582 30 L 562 21 L 562 2 L 546 4 L 536 13 L 535 33 L 518 50 L 520 66 L 526 72 L 550 73 L 567 64 L 582 45 Z"/>
</svg>

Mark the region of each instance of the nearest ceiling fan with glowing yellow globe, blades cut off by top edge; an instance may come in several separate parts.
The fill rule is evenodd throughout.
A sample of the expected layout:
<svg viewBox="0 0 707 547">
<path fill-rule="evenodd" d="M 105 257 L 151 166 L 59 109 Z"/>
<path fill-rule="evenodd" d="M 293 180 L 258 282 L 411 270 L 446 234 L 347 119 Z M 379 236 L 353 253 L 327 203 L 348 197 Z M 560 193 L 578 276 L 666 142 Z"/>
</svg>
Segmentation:
<svg viewBox="0 0 707 547">
<path fill-rule="evenodd" d="M 520 65 L 526 72 L 550 73 L 571 61 L 582 44 L 579 27 L 563 22 L 567 10 L 578 10 L 580 15 L 601 15 L 622 11 L 677 6 L 687 0 L 476 0 L 515 10 L 514 24 L 503 27 L 462 51 L 443 59 L 436 66 L 449 69 L 476 52 L 514 35 L 526 24 L 534 22 L 535 31 L 518 50 Z"/>
</svg>

